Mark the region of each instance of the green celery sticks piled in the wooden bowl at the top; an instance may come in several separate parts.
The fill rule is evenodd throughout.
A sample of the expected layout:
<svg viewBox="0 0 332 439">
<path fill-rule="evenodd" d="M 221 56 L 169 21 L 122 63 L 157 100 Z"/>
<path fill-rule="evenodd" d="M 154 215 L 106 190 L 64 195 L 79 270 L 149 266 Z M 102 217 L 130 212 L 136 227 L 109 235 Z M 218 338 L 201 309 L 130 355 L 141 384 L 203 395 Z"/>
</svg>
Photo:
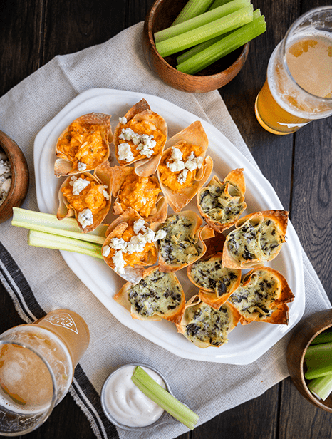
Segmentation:
<svg viewBox="0 0 332 439">
<path fill-rule="evenodd" d="M 160 56 L 182 52 L 177 70 L 193 75 L 265 31 L 250 0 L 189 0 L 172 26 L 154 36 Z"/>
</svg>

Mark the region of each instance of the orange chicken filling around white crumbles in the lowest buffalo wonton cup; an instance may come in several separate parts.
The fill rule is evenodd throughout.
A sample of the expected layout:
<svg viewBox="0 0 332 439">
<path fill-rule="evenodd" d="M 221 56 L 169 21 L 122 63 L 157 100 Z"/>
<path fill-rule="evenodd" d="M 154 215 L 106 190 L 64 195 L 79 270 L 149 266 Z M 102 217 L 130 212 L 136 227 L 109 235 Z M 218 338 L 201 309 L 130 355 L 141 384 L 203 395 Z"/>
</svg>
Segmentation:
<svg viewBox="0 0 332 439">
<path fill-rule="evenodd" d="M 141 233 L 138 232 L 138 235 L 140 234 Z M 127 229 L 125 229 L 125 232 L 119 230 L 118 233 L 115 232 L 113 234 L 113 238 L 118 238 L 118 239 L 122 238 L 123 241 L 125 242 L 130 242 L 130 239 L 132 239 L 132 237 L 135 236 L 136 234 L 133 229 L 133 223 L 132 224 L 128 223 L 128 227 Z M 112 247 L 112 239 L 109 244 L 110 252 L 106 257 L 104 255 L 105 259 L 108 259 L 109 261 L 112 261 L 113 256 L 115 255 L 116 252 L 118 252 L 118 247 L 116 245 L 115 247 L 117 248 Z M 157 258 L 157 249 L 155 247 L 155 244 L 153 244 L 153 242 L 146 242 L 144 249 L 142 249 L 141 252 L 131 253 L 131 252 L 126 252 L 124 249 L 122 252 L 122 257 L 123 257 L 123 261 L 125 262 L 125 265 L 130 265 L 131 267 L 134 267 L 134 265 L 145 265 L 149 262 L 151 257 Z"/>
</svg>

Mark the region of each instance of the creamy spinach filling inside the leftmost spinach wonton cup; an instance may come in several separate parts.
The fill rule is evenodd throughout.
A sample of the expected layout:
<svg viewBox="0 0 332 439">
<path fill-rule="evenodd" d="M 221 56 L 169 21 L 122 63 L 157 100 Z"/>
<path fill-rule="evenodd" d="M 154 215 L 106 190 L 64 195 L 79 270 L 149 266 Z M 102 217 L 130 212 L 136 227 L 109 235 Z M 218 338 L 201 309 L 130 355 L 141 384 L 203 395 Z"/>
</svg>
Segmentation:
<svg viewBox="0 0 332 439">
<path fill-rule="evenodd" d="M 179 306 L 182 295 L 180 286 L 170 273 L 154 270 L 128 291 L 130 304 L 142 316 L 167 314 Z"/>
</svg>

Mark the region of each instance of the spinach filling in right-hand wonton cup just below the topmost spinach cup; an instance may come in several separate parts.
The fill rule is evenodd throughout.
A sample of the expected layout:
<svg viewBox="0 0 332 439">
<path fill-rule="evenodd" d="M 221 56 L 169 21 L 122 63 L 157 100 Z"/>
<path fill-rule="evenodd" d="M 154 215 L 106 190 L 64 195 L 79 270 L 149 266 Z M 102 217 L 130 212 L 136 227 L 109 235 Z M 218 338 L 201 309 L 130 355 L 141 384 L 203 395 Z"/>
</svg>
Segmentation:
<svg viewBox="0 0 332 439">
<path fill-rule="evenodd" d="M 249 220 L 229 233 L 227 248 L 237 261 L 267 259 L 284 242 L 272 220 Z"/>
</svg>

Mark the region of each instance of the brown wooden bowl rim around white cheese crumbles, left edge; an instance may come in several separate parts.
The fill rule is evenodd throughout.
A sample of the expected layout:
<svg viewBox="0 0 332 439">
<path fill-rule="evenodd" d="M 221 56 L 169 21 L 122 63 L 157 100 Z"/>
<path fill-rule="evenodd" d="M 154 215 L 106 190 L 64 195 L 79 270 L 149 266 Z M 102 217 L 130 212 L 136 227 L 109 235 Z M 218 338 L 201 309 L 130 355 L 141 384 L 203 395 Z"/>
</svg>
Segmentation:
<svg viewBox="0 0 332 439">
<path fill-rule="evenodd" d="M 20 207 L 28 192 L 28 164 L 19 146 L 0 131 L 0 149 L 3 149 L 11 165 L 11 187 L 0 205 L 0 223 L 13 215 L 13 207 Z"/>
</svg>

